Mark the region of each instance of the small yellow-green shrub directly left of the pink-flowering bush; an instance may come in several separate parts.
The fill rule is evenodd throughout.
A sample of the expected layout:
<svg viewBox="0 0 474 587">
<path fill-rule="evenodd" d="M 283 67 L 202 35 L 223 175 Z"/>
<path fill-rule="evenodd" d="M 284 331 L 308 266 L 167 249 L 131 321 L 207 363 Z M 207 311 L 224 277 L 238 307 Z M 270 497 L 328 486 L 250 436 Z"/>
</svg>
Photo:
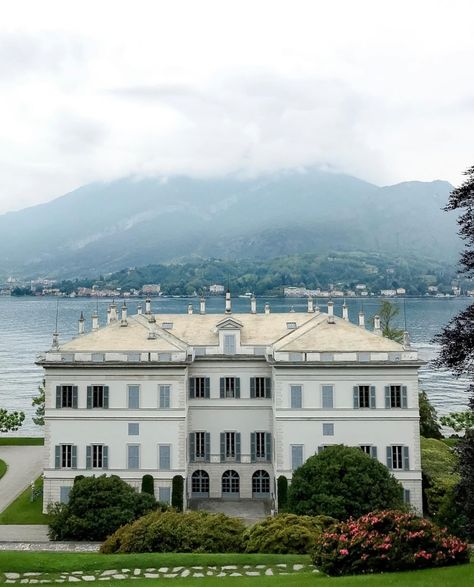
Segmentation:
<svg viewBox="0 0 474 587">
<path fill-rule="evenodd" d="M 323 530 L 336 520 L 328 516 L 281 514 L 254 524 L 244 534 L 246 552 L 307 554 Z"/>
</svg>

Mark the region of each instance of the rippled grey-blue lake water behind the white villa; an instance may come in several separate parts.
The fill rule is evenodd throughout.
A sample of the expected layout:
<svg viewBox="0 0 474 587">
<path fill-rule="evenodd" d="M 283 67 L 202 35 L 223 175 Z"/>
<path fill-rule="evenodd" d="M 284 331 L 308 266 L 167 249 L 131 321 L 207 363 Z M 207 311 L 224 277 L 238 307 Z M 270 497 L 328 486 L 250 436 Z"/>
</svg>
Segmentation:
<svg viewBox="0 0 474 587">
<path fill-rule="evenodd" d="M 130 313 L 136 312 L 140 300 L 128 300 Z M 258 311 L 263 311 L 265 301 L 269 301 L 272 312 L 287 312 L 293 306 L 295 311 L 306 310 L 306 300 L 273 298 L 258 300 Z M 400 307 L 398 326 L 403 327 L 403 300 L 392 300 Z M 472 300 L 471 300 L 472 301 Z M 378 299 L 348 299 L 349 317 L 357 322 L 357 315 L 363 303 L 366 320 L 378 307 Z M 99 301 L 100 323 L 106 322 L 106 310 L 110 300 Z M 188 303 L 198 308 L 196 298 L 157 298 L 152 301 L 152 309 L 159 313 L 185 313 Z M 327 300 L 317 300 L 325 311 Z M 407 299 L 405 302 L 408 331 L 413 346 L 420 357 L 431 361 L 437 348 L 431 342 L 433 336 L 458 312 L 470 303 L 468 299 L 423 298 Z M 248 312 L 248 299 L 236 298 L 232 301 L 234 312 Z M 11 298 L 0 297 L 0 407 L 10 410 L 23 410 L 25 423 L 20 433 L 23 435 L 41 434 L 41 429 L 31 420 L 34 409 L 31 398 L 37 393 L 42 378 L 42 369 L 34 364 L 38 352 L 51 346 L 51 334 L 55 327 L 56 308 L 58 312 L 58 331 L 60 342 L 77 333 L 77 320 L 81 310 L 86 317 L 86 327 L 90 330 L 90 316 L 96 308 L 96 301 L 88 298 Z M 336 315 L 342 315 L 342 300 L 335 300 Z M 207 312 L 222 313 L 222 297 L 207 300 Z M 467 403 L 465 392 L 467 381 L 454 378 L 446 370 L 435 370 L 429 363 L 420 370 L 420 387 L 424 389 L 439 414 L 461 410 Z"/>
</svg>

